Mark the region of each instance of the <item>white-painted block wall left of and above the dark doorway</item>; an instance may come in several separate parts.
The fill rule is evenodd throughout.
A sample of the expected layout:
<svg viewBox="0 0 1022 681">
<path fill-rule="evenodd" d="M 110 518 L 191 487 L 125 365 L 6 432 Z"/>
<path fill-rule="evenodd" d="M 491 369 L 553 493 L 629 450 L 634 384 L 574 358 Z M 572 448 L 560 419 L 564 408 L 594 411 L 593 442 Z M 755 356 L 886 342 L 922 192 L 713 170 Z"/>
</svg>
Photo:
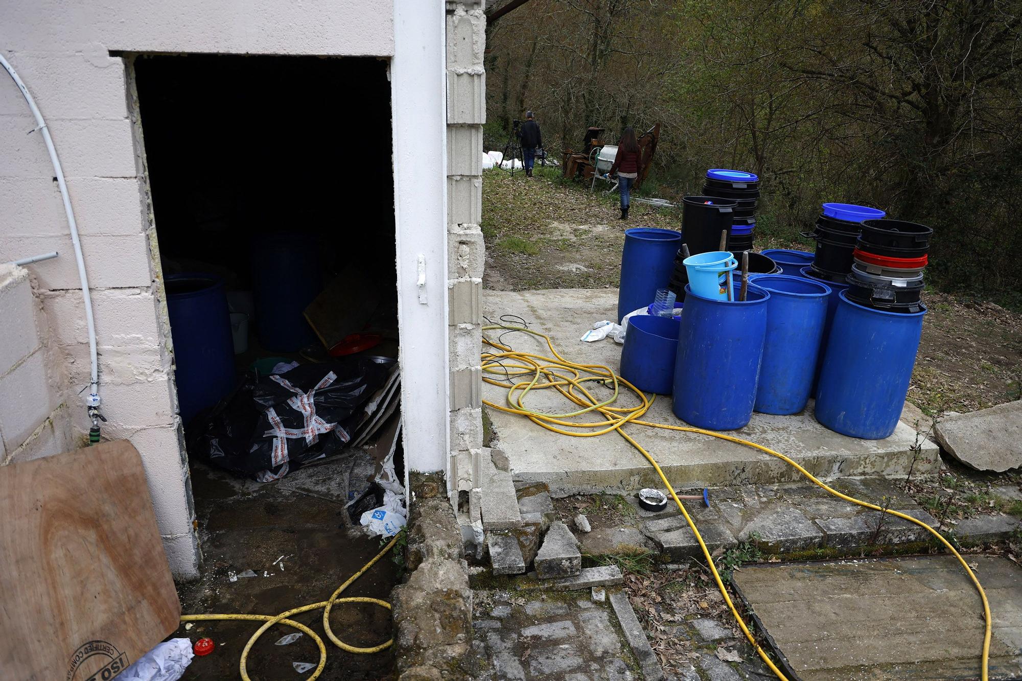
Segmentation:
<svg viewBox="0 0 1022 681">
<path fill-rule="evenodd" d="M 125 61 L 110 52 L 390 56 L 393 36 L 390 0 L 0 3 L 0 50 L 46 118 L 82 235 L 108 419 L 103 436 L 127 438 L 141 453 L 178 576 L 196 574 L 198 545 L 141 148 L 129 117 Z M 268 87 L 286 92 L 283 84 Z M 78 395 L 89 374 L 82 294 L 60 194 L 34 128 L 17 88 L 0 74 L 0 263 L 61 254 L 28 268 L 38 280 L 60 358 L 51 364 L 66 367 L 62 394 L 47 393 L 41 409 L 65 404 L 67 418 L 82 433 L 89 425 Z M 41 384 L 38 376 L 33 380 Z M 63 449 L 71 448 L 65 444 Z M 46 453 L 54 451 L 60 448 Z"/>
</svg>

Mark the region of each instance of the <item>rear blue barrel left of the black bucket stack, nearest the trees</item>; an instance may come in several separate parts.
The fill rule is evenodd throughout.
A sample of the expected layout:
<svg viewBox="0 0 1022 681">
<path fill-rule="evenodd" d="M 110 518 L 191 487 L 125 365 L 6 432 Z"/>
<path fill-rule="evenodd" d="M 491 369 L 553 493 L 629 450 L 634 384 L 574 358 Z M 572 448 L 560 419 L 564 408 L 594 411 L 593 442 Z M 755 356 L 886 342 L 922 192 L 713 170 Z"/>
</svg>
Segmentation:
<svg viewBox="0 0 1022 681">
<path fill-rule="evenodd" d="M 667 287 L 681 245 L 681 233 L 670 229 L 640 227 L 624 231 L 617 323 L 630 312 L 649 305 L 657 288 Z"/>
</svg>

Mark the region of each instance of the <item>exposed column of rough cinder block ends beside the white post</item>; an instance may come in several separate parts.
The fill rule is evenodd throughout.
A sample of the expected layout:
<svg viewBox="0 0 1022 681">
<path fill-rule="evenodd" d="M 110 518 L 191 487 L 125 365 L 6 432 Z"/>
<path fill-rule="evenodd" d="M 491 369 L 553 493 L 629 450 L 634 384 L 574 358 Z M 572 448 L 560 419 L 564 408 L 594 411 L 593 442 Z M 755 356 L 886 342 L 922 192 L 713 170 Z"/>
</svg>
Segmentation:
<svg viewBox="0 0 1022 681">
<path fill-rule="evenodd" d="M 451 474 L 462 490 L 474 487 L 472 461 L 482 447 L 482 9 L 480 1 L 447 3 Z"/>
</svg>

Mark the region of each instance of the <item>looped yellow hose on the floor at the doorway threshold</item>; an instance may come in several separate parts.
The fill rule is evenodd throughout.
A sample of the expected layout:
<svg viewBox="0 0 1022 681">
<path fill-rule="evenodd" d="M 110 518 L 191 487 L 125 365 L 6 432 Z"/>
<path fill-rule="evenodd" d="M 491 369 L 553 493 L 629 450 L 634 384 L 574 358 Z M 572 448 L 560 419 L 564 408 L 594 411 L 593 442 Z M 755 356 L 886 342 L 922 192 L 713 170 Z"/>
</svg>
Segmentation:
<svg viewBox="0 0 1022 681">
<path fill-rule="evenodd" d="M 286 612 L 281 612 L 280 615 L 274 615 L 274 616 L 270 616 L 270 615 L 182 615 L 181 616 L 181 621 L 182 622 L 207 622 L 207 621 L 215 621 L 215 620 L 235 620 L 235 621 L 239 621 L 240 620 L 240 621 L 248 621 L 248 622 L 262 622 L 263 626 L 260 627 L 259 630 L 254 634 L 251 635 L 251 638 L 248 639 L 248 642 L 245 643 L 244 649 L 241 651 L 241 660 L 239 662 L 238 669 L 241 672 L 242 681 L 251 681 L 251 679 L 248 678 L 248 672 L 247 672 L 247 669 L 246 669 L 247 664 L 248 664 L 248 652 L 252 649 L 252 645 L 256 643 L 257 639 L 259 639 L 259 637 L 262 636 L 266 632 L 267 629 L 269 629 L 270 627 L 272 627 L 273 625 L 276 625 L 276 624 L 282 624 L 282 625 L 286 625 L 288 627 L 291 627 L 292 629 L 297 629 L 303 634 L 305 634 L 305 635 L 309 636 L 311 639 L 313 639 L 316 642 L 316 645 L 320 649 L 320 662 L 319 662 L 319 665 L 317 665 L 316 670 L 313 671 L 312 675 L 308 679 L 306 679 L 306 681 L 315 681 L 315 679 L 318 679 L 319 675 L 323 673 L 323 668 L 326 667 L 326 645 L 323 643 L 323 639 L 320 638 L 319 635 L 316 632 L 314 632 L 312 629 L 310 629 L 309 627 L 305 626 L 300 622 L 295 622 L 293 620 L 289 620 L 288 618 L 290 618 L 291 616 L 294 616 L 294 615 L 299 615 L 301 612 L 308 612 L 309 610 L 317 610 L 317 609 L 319 609 L 319 608 L 322 607 L 323 608 L 323 630 L 326 632 L 326 635 L 330 638 L 330 640 L 333 642 L 333 644 L 336 645 L 341 650 L 346 650 L 347 652 L 356 652 L 356 653 L 367 654 L 367 653 L 371 653 L 371 652 L 379 652 L 380 650 L 383 650 L 384 648 L 389 647 L 389 645 L 391 643 L 393 643 L 393 639 L 389 639 L 385 643 L 380 643 L 379 645 L 374 645 L 374 646 L 368 647 L 368 648 L 360 648 L 358 646 L 349 645 L 347 643 L 344 643 L 342 640 L 340 640 L 339 638 L 337 638 L 337 636 L 333 633 L 333 630 L 330 629 L 330 608 L 333 607 L 334 603 L 373 603 L 375 605 L 380 605 L 382 607 L 390 609 L 390 603 L 386 602 L 385 600 L 380 600 L 379 598 L 366 598 L 366 597 L 362 597 L 362 596 L 352 596 L 352 597 L 346 597 L 346 598 L 338 598 L 338 596 L 340 596 L 341 592 L 344 589 L 346 589 L 349 586 L 351 586 L 351 584 L 355 580 L 357 580 L 360 577 L 362 577 L 362 575 L 365 574 L 365 572 L 367 570 L 369 570 L 370 568 L 372 568 L 376 563 L 377 560 L 379 560 L 384 555 L 386 555 L 387 551 L 389 551 L 391 548 L 393 548 L 394 544 L 398 543 L 398 538 L 399 537 L 401 537 L 400 534 L 396 535 L 393 537 L 393 539 L 391 539 L 390 542 L 387 543 L 387 545 L 383 547 L 383 550 L 381 550 L 379 553 L 377 553 L 376 556 L 372 560 L 370 560 L 365 565 L 363 565 L 362 570 L 360 570 L 359 572 L 357 572 L 356 574 L 354 574 L 350 578 L 347 578 L 346 582 L 344 582 L 339 587 L 337 587 L 337 590 L 334 591 L 333 594 L 331 594 L 331 596 L 327 600 L 324 600 L 322 602 L 319 602 L 319 603 L 310 603 L 309 605 L 303 605 L 301 607 L 295 607 L 293 609 L 287 610 Z"/>
</svg>

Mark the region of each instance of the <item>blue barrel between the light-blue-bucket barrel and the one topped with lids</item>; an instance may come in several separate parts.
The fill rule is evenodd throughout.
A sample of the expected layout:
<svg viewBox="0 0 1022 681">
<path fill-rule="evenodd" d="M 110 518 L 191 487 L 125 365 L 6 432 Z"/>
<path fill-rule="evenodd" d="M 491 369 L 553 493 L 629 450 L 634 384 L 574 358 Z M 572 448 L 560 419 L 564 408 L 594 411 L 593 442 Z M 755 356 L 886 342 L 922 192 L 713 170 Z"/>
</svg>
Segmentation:
<svg viewBox="0 0 1022 681">
<path fill-rule="evenodd" d="M 754 281 L 770 291 L 770 301 L 753 408 L 763 414 L 797 414 L 812 394 L 831 289 L 784 274 L 763 274 Z"/>
</svg>

